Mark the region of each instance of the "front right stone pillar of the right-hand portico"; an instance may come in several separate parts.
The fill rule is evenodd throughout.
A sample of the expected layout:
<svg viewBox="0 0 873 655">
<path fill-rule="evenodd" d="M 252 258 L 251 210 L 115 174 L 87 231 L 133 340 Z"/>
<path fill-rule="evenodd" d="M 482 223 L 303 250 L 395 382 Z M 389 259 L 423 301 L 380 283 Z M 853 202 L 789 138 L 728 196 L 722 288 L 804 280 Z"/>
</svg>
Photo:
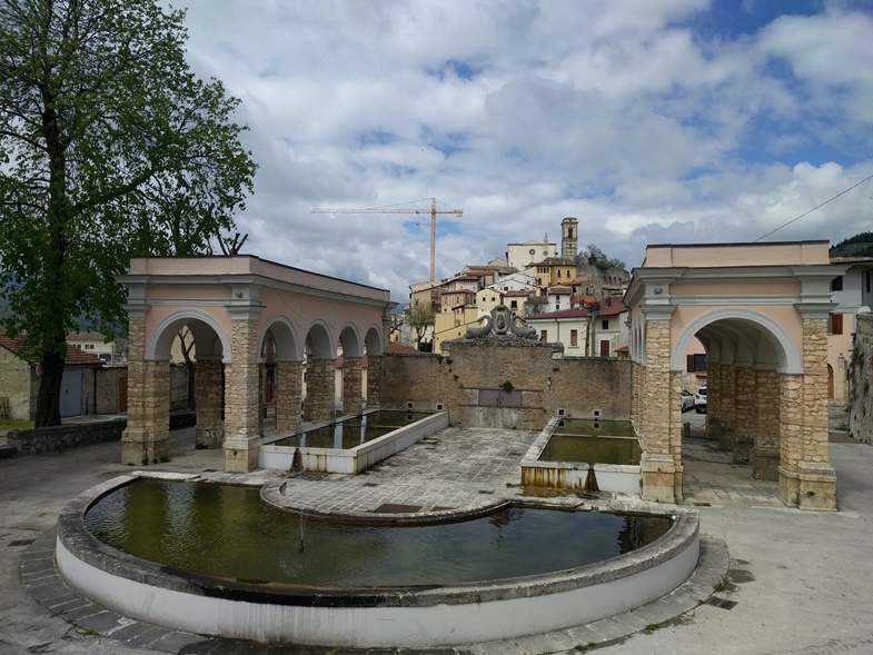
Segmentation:
<svg viewBox="0 0 873 655">
<path fill-rule="evenodd" d="M 827 444 L 827 319 L 803 321 L 803 426 L 797 464 L 802 509 L 836 509 Z"/>
</svg>

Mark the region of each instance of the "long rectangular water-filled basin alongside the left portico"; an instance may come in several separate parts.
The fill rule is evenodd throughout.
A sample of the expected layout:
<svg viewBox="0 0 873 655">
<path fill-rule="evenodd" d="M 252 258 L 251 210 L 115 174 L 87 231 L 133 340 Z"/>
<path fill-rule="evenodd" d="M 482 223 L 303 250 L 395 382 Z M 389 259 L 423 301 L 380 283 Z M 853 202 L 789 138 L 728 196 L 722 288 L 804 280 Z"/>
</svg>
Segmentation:
<svg viewBox="0 0 873 655">
<path fill-rule="evenodd" d="M 371 411 L 300 435 L 279 435 L 261 445 L 258 466 L 358 474 L 446 427 L 446 411 Z"/>
</svg>

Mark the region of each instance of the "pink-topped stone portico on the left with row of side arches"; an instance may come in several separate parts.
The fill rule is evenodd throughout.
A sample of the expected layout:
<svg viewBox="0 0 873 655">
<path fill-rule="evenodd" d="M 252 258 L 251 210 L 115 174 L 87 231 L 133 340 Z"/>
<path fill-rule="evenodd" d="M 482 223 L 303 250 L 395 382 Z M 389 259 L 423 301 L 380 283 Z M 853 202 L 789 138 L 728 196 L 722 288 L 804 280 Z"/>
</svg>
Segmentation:
<svg viewBox="0 0 873 655">
<path fill-rule="evenodd" d="M 275 361 L 277 430 L 296 430 L 305 363 L 309 390 L 317 390 L 307 395 L 307 406 L 316 417 L 333 416 L 341 344 L 351 369 L 357 360 L 359 405 L 364 343 L 371 361 L 378 359 L 394 307 L 384 289 L 252 256 L 136 258 L 118 279 L 128 288 L 130 318 L 122 462 L 135 465 L 169 455 L 169 363 L 182 327 L 196 357 L 197 445 L 224 445 L 225 468 L 248 472 L 261 436 L 266 354 Z M 318 381 L 321 369 L 329 371 L 329 385 Z"/>
</svg>

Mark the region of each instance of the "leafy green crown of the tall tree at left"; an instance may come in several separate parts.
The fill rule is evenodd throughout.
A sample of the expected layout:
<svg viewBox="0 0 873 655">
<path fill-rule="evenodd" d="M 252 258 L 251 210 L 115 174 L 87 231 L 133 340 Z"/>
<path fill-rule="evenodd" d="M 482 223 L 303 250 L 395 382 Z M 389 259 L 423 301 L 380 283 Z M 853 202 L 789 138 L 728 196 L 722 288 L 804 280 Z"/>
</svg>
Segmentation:
<svg viewBox="0 0 873 655">
<path fill-rule="evenodd" d="M 239 101 L 190 72 L 183 19 L 157 0 L 0 0 L 2 328 L 31 359 L 62 366 L 77 319 L 115 334 L 130 257 L 210 252 L 251 192 Z"/>
</svg>

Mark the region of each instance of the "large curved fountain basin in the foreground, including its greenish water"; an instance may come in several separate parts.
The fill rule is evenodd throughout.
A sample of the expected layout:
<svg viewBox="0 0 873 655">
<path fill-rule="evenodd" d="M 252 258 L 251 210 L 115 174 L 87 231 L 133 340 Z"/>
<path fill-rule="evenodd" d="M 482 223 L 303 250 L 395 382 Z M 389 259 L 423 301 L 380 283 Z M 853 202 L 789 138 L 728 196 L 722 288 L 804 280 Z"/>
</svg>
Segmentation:
<svg viewBox="0 0 873 655">
<path fill-rule="evenodd" d="M 504 507 L 446 525 L 349 526 L 276 510 L 257 488 L 136 480 L 121 476 L 65 508 L 59 572 L 115 612 L 198 634 L 345 647 L 509 638 L 651 602 L 687 578 L 700 553 L 693 512 Z M 597 545 L 581 556 L 586 540 Z"/>
</svg>

